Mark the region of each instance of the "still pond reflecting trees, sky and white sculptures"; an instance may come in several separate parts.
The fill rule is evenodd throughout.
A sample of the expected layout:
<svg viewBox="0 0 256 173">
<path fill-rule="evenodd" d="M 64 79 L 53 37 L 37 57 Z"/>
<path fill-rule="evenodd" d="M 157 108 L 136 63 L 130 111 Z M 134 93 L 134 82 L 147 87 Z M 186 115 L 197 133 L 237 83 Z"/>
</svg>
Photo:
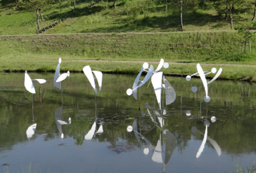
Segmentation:
<svg viewBox="0 0 256 173">
<path fill-rule="evenodd" d="M 160 111 L 149 82 L 140 101 L 139 90 L 137 100 L 126 94 L 135 75 L 104 74 L 97 96 L 84 73 L 71 73 L 62 90 L 54 73 L 29 75 L 47 80 L 34 82 L 33 96 L 24 73 L 0 74 L 0 172 L 235 172 L 255 164 L 254 83 L 216 80 L 205 103 L 200 78 L 165 77 L 177 97 Z"/>
</svg>

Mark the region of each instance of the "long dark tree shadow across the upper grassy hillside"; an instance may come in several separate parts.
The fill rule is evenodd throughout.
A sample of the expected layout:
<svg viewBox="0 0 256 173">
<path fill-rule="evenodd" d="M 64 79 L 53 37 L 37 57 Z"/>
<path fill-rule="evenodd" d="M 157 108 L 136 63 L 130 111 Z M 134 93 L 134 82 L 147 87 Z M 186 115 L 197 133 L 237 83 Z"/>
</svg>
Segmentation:
<svg viewBox="0 0 256 173">
<path fill-rule="evenodd" d="M 117 19 L 113 22 L 117 26 L 112 27 L 99 27 L 97 29 L 83 30 L 82 33 L 86 32 L 132 32 L 132 31 L 143 31 L 143 30 L 172 30 L 181 31 L 180 29 L 180 16 L 177 14 L 163 16 L 163 17 L 144 17 L 135 21 L 129 20 L 129 16 L 126 19 Z M 197 12 L 187 12 L 183 15 L 183 24 L 191 26 L 211 26 L 212 28 L 222 27 L 227 24 L 224 19 L 220 16 L 213 16 L 211 14 L 201 14 Z"/>
</svg>

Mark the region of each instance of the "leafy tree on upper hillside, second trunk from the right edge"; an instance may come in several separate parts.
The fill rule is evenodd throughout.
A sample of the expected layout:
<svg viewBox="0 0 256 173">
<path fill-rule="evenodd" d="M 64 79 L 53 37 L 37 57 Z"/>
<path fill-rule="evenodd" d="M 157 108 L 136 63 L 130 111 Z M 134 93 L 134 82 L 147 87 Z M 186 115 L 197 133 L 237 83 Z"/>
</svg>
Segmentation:
<svg viewBox="0 0 256 173">
<path fill-rule="evenodd" d="M 241 6 L 245 3 L 245 0 L 212 0 L 214 2 L 214 7 L 220 14 L 225 12 L 225 19 L 228 20 L 228 14 L 230 17 L 230 27 L 233 29 L 233 17 L 232 12 L 234 11 L 234 6 Z"/>
</svg>

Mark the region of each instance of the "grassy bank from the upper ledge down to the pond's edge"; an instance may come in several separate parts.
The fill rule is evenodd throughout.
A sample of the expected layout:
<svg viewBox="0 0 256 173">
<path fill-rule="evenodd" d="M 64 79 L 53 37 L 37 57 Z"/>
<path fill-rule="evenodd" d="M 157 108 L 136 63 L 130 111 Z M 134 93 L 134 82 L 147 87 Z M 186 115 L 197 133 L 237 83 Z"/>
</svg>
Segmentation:
<svg viewBox="0 0 256 173">
<path fill-rule="evenodd" d="M 63 71 L 82 72 L 84 66 L 91 65 L 102 72 L 135 74 L 142 62 L 159 62 L 164 58 L 165 62 L 181 62 L 165 70 L 169 75 L 192 74 L 196 72 L 195 63 L 214 63 L 216 65 L 202 67 L 207 71 L 212 67 L 224 68 L 221 78 L 255 81 L 256 70 L 252 66 L 256 64 L 255 47 L 252 47 L 252 54 L 244 54 L 240 48 L 236 32 L 220 31 L 1 36 L 0 70 L 54 72 L 57 59 L 61 57 Z M 237 66 L 217 65 L 222 63 Z"/>
</svg>

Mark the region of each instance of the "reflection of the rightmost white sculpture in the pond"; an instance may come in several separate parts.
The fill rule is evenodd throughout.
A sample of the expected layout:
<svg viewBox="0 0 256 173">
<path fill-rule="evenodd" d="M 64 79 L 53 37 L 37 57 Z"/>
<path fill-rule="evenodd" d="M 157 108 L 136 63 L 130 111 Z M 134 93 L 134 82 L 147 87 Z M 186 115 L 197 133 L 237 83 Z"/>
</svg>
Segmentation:
<svg viewBox="0 0 256 173">
<path fill-rule="evenodd" d="M 216 121 L 215 116 L 212 116 L 211 121 L 212 121 L 212 123 L 215 123 L 215 121 Z M 220 149 L 219 145 L 217 144 L 216 141 L 214 141 L 214 139 L 212 139 L 209 136 L 207 136 L 208 128 L 210 126 L 210 122 L 207 120 L 207 113 L 206 113 L 206 117 L 205 117 L 205 121 L 204 121 L 204 126 L 205 126 L 205 133 L 202 133 L 199 130 L 197 130 L 197 128 L 195 126 L 193 126 L 192 129 L 191 129 L 191 131 L 193 133 L 197 133 L 198 132 L 198 133 L 204 135 L 204 139 L 202 141 L 201 146 L 199 147 L 199 151 L 197 152 L 196 157 L 199 158 L 201 153 L 204 151 L 204 147 L 205 147 L 205 144 L 206 144 L 207 140 L 210 142 L 210 144 L 212 144 L 212 146 L 214 146 L 215 150 L 217 151 L 218 156 L 220 156 L 221 155 L 221 149 Z"/>
</svg>

